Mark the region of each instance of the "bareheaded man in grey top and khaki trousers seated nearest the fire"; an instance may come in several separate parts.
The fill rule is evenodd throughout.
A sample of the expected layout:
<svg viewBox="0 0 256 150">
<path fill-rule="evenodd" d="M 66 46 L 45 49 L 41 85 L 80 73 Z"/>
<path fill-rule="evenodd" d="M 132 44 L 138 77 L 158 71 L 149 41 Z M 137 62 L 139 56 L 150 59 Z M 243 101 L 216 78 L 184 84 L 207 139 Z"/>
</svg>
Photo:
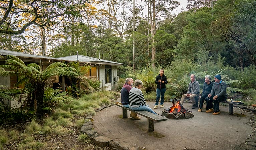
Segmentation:
<svg viewBox="0 0 256 150">
<path fill-rule="evenodd" d="M 199 98 L 199 83 L 195 79 L 195 75 L 190 76 L 189 88 L 187 94 L 183 94 L 181 97 L 181 105 L 183 105 L 185 99 L 190 98 L 192 101 L 192 109 L 198 107 L 198 101 L 195 98 Z"/>
</svg>

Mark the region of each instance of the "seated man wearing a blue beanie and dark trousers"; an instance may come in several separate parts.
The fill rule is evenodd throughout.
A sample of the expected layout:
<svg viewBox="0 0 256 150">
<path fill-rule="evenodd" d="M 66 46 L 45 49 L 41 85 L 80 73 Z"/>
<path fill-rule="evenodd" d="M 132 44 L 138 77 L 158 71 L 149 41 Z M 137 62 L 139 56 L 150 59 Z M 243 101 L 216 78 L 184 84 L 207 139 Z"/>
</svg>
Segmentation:
<svg viewBox="0 0 256 150">
<path fill-rule="evenodd" d="M 221 80 L 221 75 L 217 74 L 214 76 L 214 83 L 211 93 L 208 94 L 207 104 L 209 110 L 206 113 L 211 113 L 214 111 L 213 115 L 220 114 L 219 102 L 225 101 L 227 99 L 227 85 Z M 213 102 L 213 104 L 212 104 Z"/>
</svg>

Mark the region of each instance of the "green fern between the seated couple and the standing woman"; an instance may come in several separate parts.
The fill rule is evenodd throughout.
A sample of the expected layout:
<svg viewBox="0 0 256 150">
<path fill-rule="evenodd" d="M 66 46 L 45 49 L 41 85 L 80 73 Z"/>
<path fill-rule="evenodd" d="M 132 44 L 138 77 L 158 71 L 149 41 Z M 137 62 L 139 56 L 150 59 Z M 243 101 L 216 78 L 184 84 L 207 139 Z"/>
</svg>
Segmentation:
<svg viewBox="0 0 256 150">
<path fill-rule="evenodd" d="M 134 74 L 129 74 L 128 76 L 141 80 L 143 82 L 143 88 L 145 88 L 146 93 L 154 91 L 156 88 L 156 76 L 152 71 L 142 72 L 141 74 L 135 72 Z"/>
</svg>

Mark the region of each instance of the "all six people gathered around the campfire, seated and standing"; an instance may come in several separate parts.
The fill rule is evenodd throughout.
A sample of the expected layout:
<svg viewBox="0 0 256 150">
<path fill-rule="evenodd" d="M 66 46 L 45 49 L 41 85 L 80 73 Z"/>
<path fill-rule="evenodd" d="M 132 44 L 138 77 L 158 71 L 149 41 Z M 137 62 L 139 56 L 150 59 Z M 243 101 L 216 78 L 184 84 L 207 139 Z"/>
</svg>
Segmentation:
<svg viewBox="0 0 256 150">
<path fill-rule="evenodd" d="M 190 98 L 192 101 L 192 109 L 198 107 L 198 98 L 200 97 L 199 83 L 195 79 L 195 75 L 190 76 L 189 88 L 186 94 L 182 95 L 180 103 L 183 105 L 185 99 Z M 203 84 L 203 92 L 200 97 L 200 104 L 198 112 L 202 112 L 204 101 L 206 101 L 206 112 L 213 115 L 220 114 L 219 102 L 227 99 L 227 85 L 221 80 L 221 75 L 214 76 L 214 83 L 211 81 L 211 76 L 205 76 L 205 82 Z M 155 83 L 157 84 L 156 89 L 156 103 L 154 109 L 158 108 L 159 99 L 160 108 L 164 108 L 164 96 L 166 91 L 166 84 L 168 83 L 164 70 L 160 69 L 159 75 L 156 77 Z M 132 78 L 127 78 L 125 84 L 121 89 L 121 103 L 124 107 L 128 107 L 132 110 L 141 111 L 145 110 L 154 114 L 154 112 L 147 104 L 141 91 L 143 83 L 141 80 L 133 81 Z M 130 117 L 139 120 L 140 117 L 136 113 L 131 112 Z"/>
</svg>

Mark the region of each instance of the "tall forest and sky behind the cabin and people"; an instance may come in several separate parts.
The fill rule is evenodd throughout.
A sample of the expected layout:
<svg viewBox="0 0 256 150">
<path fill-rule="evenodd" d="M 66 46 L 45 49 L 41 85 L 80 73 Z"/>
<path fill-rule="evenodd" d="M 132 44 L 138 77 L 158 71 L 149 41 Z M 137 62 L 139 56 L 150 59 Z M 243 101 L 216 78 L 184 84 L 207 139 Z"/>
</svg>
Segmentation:
<svg viewBox="0 0 256 150">
<path fill-rule="evenodd" d="M 180 3 L 171 0 L 1 0 L 0 49 L 100 56 L 124 64 L 121 78 L 164 68 L 181 93 L 190 74 L 203 83 L 219 73 L 230 91 L 254 93 L 256 2 L 187 2 L 187 11 L 175 14 Z"/>
</svg>

